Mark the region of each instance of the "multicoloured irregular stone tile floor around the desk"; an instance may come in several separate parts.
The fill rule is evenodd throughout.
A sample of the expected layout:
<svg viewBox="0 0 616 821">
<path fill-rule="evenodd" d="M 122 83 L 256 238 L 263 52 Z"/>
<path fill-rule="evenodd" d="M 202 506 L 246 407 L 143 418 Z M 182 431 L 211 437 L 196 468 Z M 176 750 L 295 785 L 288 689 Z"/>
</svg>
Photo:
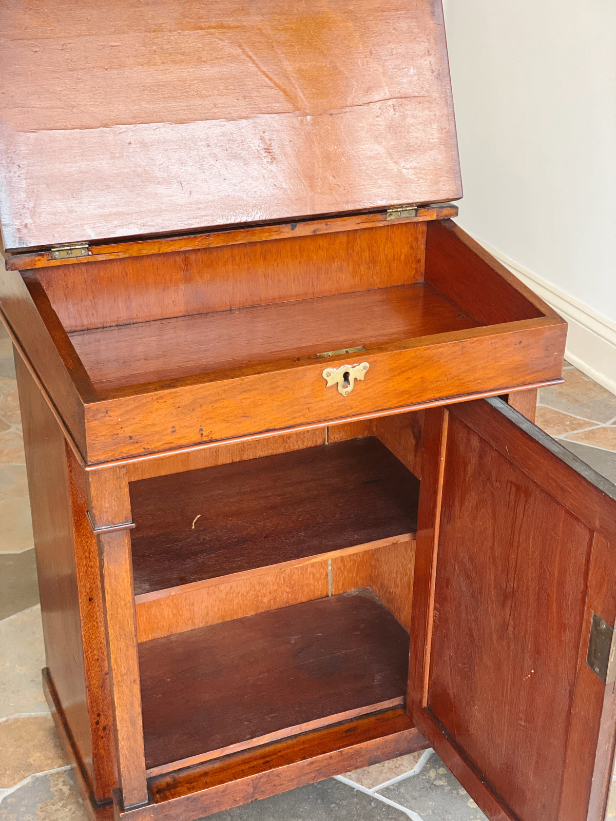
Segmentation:
<svg viewBox="0 0 616 821">
<path fill-rule="evenodd" d="M 2 326 L 0 326 L 2 328 Z M 616 397 L 567 365 L 537 424 L 616 481 Z M 0 821 L 85 821 L 40 685 L 44 646 L 11 343 L 0 330 Z M 616 818 L 616 800 L 609 817 Z M 210 816 L 216 821 L 479 821 L 432 750 Z"/>
</svg>

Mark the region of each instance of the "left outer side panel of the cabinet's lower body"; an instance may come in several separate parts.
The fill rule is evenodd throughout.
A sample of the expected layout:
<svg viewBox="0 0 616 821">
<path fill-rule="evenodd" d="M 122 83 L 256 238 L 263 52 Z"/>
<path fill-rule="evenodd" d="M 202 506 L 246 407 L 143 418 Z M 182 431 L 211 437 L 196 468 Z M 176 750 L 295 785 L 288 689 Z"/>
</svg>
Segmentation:
<svg viewBox="0 0 616 821">
<path fill-rule="evenodd" d="M 24 363 L 16 359 L 46 664 L 90 791 L 116 785 L 96 542 L 83 474 Z M 81 475 L 81 482 L 77 481 Z"/>
</svg>

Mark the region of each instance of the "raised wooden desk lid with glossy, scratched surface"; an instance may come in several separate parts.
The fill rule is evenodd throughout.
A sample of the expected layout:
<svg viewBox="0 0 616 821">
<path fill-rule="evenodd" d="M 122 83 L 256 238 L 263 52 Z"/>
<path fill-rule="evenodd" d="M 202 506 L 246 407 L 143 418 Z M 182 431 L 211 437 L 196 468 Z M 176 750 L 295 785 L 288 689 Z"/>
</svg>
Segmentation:
<svg viewBox="0 0 616 821">
<path fill-rule="evenodd" d="M 441 0 L 7 0 L 7 249 L 462 195 Z"/>
</svg>

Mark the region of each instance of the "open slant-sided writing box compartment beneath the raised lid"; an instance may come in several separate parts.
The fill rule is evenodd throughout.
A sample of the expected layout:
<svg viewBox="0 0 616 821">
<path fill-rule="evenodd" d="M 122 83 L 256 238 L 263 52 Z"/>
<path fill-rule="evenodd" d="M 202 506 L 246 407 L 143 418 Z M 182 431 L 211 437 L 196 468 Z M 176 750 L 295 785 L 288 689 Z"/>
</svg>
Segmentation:
<svg viewBox="0 0 616 821">
<path fill-rule="evenodd" d="M 23 270 L 30 297 L 2 310 L 89 461 L 560 377 L 566 324 L 453 223 L 351 222 L 100 246 Z M 327 386 L 324 366 L 362 362 L 352 392 Z"/>
</svg>

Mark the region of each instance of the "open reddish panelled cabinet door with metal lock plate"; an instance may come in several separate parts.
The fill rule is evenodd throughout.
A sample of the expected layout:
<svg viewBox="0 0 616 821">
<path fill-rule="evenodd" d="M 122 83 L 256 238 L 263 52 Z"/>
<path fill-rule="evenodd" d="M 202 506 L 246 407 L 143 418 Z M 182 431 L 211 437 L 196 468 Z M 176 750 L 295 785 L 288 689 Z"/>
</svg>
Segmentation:
<svg viewBox="0 0 616 821">
<path fill-rule="evenodd" d="M 491 821 L 603 819 L 616 487 L 499 399 L 425 421 L 407 709 Z"/>
</svg>

